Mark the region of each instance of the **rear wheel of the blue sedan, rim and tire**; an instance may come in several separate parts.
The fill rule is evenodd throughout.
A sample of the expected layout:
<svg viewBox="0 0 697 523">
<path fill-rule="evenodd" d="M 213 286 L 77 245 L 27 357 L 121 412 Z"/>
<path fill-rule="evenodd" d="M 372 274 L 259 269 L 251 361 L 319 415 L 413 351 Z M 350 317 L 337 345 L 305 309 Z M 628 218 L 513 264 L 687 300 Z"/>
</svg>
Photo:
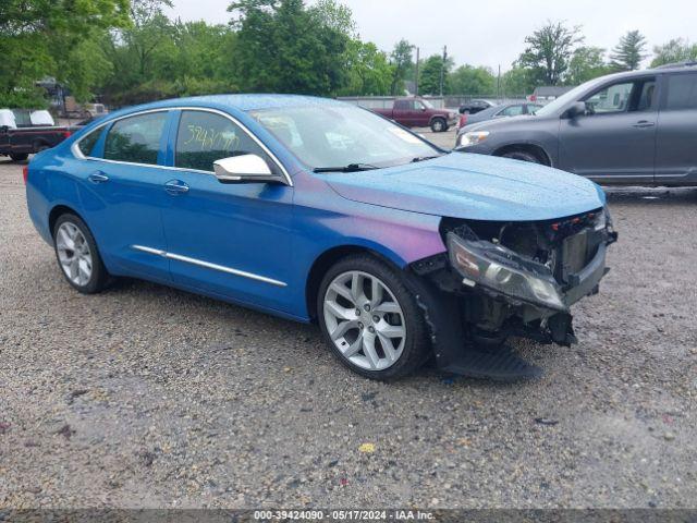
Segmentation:
<svg viewBox="0 0 697 523">
<path fill-rule="evenodd" d="M 58 265 L 68 282 L 84 294 L 95 294 L 109 283 L 95 239 L 87 224 L 72 214 L 61 215 L 53 226 Z"/>
</svg>

